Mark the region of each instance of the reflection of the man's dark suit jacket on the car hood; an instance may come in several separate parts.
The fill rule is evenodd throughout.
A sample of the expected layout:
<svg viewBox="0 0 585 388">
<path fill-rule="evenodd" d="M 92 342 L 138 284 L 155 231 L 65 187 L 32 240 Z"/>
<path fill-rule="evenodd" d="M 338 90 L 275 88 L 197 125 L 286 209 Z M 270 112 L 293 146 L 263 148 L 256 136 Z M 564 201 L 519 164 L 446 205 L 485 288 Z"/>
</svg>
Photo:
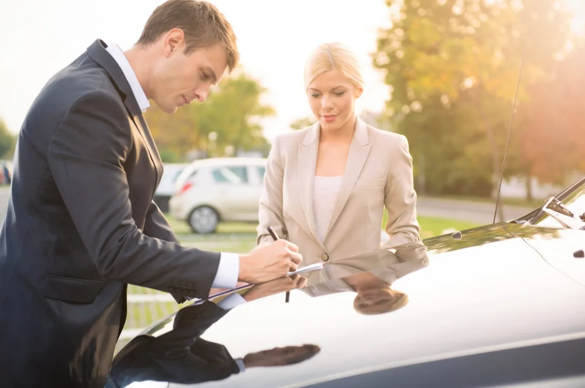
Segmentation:
<svg viewBox="0 0 585 388">
<path fill-rule="evenodd" d="M 113 361 L 106 388 L 123 388 L 145 380 L 195 384 L 239 373 L 221 344 L 199 338 L 227 311 L 205 301 L 178 311 L 173 330 L 160 337 L 132 339 Z"/>
</svg>

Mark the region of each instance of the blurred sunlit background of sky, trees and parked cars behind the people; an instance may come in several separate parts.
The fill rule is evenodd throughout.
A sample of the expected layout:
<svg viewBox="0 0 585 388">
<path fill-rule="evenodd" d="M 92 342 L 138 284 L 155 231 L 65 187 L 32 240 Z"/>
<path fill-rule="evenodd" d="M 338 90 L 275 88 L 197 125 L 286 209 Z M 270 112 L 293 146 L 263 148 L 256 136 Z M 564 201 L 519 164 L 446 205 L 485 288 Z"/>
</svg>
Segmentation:
<svg viewBox="0 0 585 388">
<path fill-rule="evenodd" d="M 43 84 L 98 37 L 131 47 L 160 2 L 0 0 L 0 206 Z M 166 165 L 156 201 L 184 244 L 252 249 L 271 140 L 315 121 L 302 71 L 324 42 L 359 56 L 364 121 L 407 136 L 423 238 L 490 223 L 502 173 L 497 221 L 585 171 L 584 0 L 211 2 L 238 35 L 240 66 L 205 104 L 145 114 Z M 129 290 L 124 337 L 178 308 L 168 294 Z"/>
</svg>

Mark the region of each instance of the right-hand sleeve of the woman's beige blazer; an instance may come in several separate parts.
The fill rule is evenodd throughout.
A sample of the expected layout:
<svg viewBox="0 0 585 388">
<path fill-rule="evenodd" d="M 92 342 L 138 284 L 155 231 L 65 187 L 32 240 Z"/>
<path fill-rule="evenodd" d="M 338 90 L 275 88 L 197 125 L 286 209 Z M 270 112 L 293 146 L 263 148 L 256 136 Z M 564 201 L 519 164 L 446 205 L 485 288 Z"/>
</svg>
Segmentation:
<svg viewBox="0 0 585 388">
<path fill-rule="evenodd" d="M 388 210 L 386 233 L 390 241 L 385 245 L 397 246 L 419 239 L 417 221 L 417 193 L 414 191 L 412 156 L 408 140 L 400 135 L 391 162 L 385 188 L 384 206 Z"/>
</svg>

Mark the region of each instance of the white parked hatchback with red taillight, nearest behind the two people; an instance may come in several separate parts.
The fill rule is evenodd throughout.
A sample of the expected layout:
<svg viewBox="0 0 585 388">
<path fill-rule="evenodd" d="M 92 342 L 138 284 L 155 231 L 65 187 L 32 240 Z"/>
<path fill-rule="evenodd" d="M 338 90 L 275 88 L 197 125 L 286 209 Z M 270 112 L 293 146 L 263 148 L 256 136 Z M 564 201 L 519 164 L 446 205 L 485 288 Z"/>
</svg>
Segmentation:
<svg viewBox="0 0 585 388">
<path fill-rule="evenodd" d="M 215 232 L 220 221 L 258 222 L 265 169 L 260 157 L 195 160 L 175 181 L 170 214 L 199 234 Z"/>
</svg>

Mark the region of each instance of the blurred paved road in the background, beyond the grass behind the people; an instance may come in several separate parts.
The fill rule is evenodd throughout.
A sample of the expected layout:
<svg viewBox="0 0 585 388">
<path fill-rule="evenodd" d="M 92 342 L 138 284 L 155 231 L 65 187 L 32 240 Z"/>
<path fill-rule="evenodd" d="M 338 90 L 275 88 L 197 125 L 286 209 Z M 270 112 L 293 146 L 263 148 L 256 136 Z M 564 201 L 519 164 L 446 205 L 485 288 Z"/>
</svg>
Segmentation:
<svg viewBox="0 0 585 388">
<path fill-rule="evenodd" d="M 0 188 L 0 208 L 4 215 L 8 203 L 8 187 Z M 510 220 L 531 212 L 532 208 L 504 205 L 504 218 Z M 494 218 L 494 204 L 475 201 L 445 200 L 442 198 L 419 197 L 417 212 L 427 217 L 460 219 L 462 221 L 491 224 Z"/>
</svg>

